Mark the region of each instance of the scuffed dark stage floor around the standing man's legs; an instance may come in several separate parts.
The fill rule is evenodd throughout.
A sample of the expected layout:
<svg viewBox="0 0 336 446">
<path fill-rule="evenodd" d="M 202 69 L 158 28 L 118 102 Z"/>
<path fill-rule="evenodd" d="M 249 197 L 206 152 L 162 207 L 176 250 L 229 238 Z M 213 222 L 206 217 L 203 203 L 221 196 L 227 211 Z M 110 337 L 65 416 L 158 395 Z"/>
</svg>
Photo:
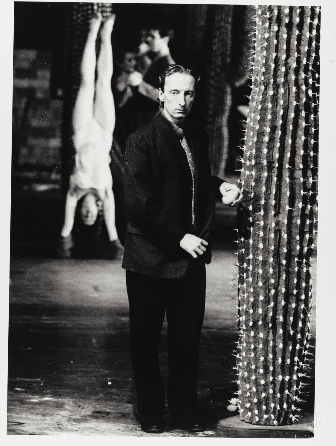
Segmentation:
<svg viewBox="0 0 336 446">
<path fill-rule="evenodd" d="M 236 244 L 228 236 L 232 219 L 234 210 L 219 206 L 220 227 L 213 262 L 207 266 L 198 386 L 199 411 L 207 430 L 190 434 L 167 425 L 159 436 L 312 437 L 307 430 L 244 429 L 240 421 L 234 427 L 218 422 L 238 418 L 226 411 L 235 390 L 237 339 Z M 137 421 L 124 276 L 117 260 L 12 255 L 8 434 L 155 436 L 143 433 Z M 160 357 L 164 380 L 166 328 Z"/>
</svg>

